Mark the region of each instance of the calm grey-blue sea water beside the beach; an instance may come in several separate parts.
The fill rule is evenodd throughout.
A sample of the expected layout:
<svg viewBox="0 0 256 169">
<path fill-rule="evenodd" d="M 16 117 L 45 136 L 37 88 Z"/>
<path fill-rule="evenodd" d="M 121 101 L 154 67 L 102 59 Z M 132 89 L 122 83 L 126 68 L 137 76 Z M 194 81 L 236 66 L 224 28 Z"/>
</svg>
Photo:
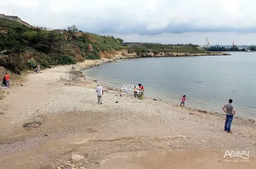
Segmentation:
<svg viewBox="0 0 256 169">
<path fill-rule="evenodd" d="M 222 113 L 232 98 L 237 115 L 256 119 L 256 53 L 223 56 L 127 59 L 96 66 L 84 73 L 108 87 L 145 87 L 145 97 Z"/>
</svg>

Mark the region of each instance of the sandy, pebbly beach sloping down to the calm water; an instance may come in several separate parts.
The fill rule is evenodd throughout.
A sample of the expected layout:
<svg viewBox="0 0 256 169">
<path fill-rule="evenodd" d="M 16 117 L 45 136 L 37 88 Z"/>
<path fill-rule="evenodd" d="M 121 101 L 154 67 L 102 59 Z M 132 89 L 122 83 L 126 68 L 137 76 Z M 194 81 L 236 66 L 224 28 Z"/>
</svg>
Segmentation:
<svg viewBox="0 0 256 169">
<path fill-rule="evenodd" d="M 22 85 L 3 89 L 0 168 L 255 168 L 253 120 L 234 118 L 230 134 L 225 115 L 119 97 L 104 86 L 99 105 L 97 82 L 81 70 L 108 61 L 28 73 Z M 29 122 L 40 126 L 24 128 Z M 227 150 L 250 151 L 250 158 L 224 158 Z"/>
</svg>

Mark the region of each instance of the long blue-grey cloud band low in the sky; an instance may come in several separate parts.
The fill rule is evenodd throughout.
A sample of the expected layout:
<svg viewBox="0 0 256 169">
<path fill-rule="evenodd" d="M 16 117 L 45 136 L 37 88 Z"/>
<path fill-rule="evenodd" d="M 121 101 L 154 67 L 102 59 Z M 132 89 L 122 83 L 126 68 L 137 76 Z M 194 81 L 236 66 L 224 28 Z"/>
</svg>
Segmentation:
<svg viewBox="0 0 256 169">
<path fill-rule="evenodd" d="M 122 29 L 116 28 L 123 26 Z M 94 28 L 95 27 L 95 28 Z M 92 29 L 88 29 L 81 25 L 81 29 L 84 31 L 93 31 L 97 30 L 97 33 L 118 33 L 118 34 L 141 34 L 141 35 L 156 35 L 163 33 L 172 33 L 172 34 L 182 34 L 182 33 L 256 33 L 256 26 L 252 27 L 234 27 L 234 26 L 194 26 L 193 24 L 168 24 L 167 27 L 157 30 L 147 30 L 146 24 L 126 24 L 122 22 L 110 22 L 102 21 L 95 23 L 92 26 Z"/>
</svg>

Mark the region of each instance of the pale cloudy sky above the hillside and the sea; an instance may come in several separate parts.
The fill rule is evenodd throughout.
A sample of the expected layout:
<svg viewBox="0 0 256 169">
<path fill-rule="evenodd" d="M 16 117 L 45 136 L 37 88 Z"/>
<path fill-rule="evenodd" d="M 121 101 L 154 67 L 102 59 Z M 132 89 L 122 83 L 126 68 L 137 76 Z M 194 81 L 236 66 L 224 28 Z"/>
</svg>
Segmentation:
<svg viewBox="0 0 256 169">
<path fill-rule="evenodd" d="M 255 0 L 1 0 L 0 13 L 125 41 L 254 45 L 255 6 Z"/>
</svg>

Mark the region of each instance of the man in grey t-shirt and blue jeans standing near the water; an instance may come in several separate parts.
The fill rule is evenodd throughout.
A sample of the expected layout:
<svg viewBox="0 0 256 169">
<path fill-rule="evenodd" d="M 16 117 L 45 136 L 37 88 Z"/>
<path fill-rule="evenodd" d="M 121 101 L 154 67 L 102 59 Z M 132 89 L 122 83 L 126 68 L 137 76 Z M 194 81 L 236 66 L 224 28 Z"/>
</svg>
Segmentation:
<svg viewBox="0 0 256 169">
<path fill-rule="evenodd" d="M 233 102 L 233 100 L 229 99 L 228 104 L 224 105 L 224 107 L 222 108 L 222 110 L 226 114 L 224 130 L 227 131 L 227 133 L 232 133 L 230 128 L 231 128 L 231 124 L 232 124 L 232 121 L 233 121 L 233 117 L 236 114 L 236 109 L 235 109 L 234 105 L 232 105 L 232 102 Z"/>
</svg>

